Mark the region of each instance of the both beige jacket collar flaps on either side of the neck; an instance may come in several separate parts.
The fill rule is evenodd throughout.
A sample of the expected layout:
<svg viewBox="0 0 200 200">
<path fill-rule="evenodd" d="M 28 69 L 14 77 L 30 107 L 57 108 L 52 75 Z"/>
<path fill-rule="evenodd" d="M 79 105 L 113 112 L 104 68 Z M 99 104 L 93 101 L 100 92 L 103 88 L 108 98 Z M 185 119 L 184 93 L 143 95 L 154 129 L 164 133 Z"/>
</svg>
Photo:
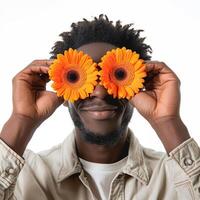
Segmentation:
<svg viewBox="0 0 200 200">
<path fill-rule="evenodd" d="M 150 169 L 144 159 L 143 148 L 129 129 L 129 153 L 122 173 L 135 177 L 143 184 L 148 184 Z M 74 174 L 80 174 L 82 165 L 77 156 L 75 146 L 75 130 L 61 144 L 61 165 L 57 171 L 57 182 L 61 182 Z"/>
</svg>

